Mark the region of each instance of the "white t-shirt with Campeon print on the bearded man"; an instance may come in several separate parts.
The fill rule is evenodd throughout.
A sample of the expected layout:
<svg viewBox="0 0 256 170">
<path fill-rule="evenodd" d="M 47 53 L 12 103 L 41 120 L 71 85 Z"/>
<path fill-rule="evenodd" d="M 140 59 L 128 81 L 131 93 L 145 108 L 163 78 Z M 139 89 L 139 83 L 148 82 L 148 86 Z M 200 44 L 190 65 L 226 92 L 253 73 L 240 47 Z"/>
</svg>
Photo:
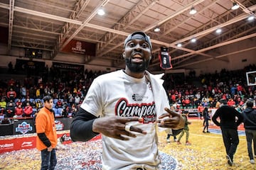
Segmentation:
<svg viewBox="0 0 256 170">
<path fill-rule="evenodd" d="M 151 83 L 146 77 L 135 79 L 123 70 L 103 74 L 92 82 L 81 108 L 96 117 L 144 118 L 143 123 L 131 124 L 145 130 L 146 135 L 137 133 L 136 138 L 131 137 L 128 141 L 102 135 L 102 169 L 157 169 L 160 160 L 156 136 L 156 106 Z"/>
</svg>

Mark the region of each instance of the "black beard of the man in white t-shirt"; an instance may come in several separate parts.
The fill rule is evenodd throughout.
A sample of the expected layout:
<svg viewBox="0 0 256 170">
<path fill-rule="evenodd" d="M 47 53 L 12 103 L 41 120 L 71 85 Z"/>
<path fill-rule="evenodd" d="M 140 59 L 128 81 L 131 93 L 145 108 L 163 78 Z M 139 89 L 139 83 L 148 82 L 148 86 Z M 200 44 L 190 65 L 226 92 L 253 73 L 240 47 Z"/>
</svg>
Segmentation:
<svg viewBox="0 0 256 170">
<path fill-rule="evenodd" d="M 142 63 L 132 63 L 132 58 L 126 58 L 125 64 L 131 72 L 141 73 L 149 67 L 150 60 L 143 61 Z"/>
</svg>

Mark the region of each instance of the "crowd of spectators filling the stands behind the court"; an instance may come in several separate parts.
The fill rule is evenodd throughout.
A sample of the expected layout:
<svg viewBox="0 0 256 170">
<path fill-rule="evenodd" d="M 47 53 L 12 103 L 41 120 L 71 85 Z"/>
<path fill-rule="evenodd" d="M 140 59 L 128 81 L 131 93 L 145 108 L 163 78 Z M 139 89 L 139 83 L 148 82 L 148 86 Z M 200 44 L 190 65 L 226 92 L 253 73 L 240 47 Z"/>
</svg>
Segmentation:
<svg viewBox="0 0 256 170">
<path fill-rule="evenodd" d="M 256 98 L 256 87 L 247 86 L 246 72 L 255 71 L 255 65 L 242 70 L 196 77 L 191 72 L 187 77 L 181 74 L 166 74 L 163 79 L 170 105 L 176 108 L 215 108 L 225 98 L 230 106 L 241 107 L 247 98 Z M 50 69 L 42 77 L 26 77 L 23 80 L 0 80 L 0 117 L 33 117 L 43 107 L 43 96 L 53 96 L 53 111 L 56 116 L 74 116 L 82 103 L 92 80 L 103 72 L 84 72 Z"/>
</svg>

